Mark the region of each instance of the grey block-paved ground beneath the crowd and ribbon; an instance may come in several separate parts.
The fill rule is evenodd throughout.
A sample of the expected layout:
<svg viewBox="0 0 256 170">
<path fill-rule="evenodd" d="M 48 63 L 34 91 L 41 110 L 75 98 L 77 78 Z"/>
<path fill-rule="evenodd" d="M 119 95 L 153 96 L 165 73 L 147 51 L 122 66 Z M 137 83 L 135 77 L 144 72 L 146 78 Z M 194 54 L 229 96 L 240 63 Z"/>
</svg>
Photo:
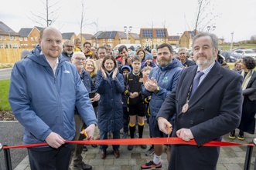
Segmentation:
<svg viewBox="0 0 256 170">
<path fill-rule="evenodd" d="M 148 125 L 145 124 L 145 137 L 148 137 Z M 245 133 L 245 140 L 243 143 L 249 143 L 254 138 L 254 135 L 248 135 Z M 227 142 L 241 142 L 238 139 L 234 141 L 228 138 L 228 135 L 224 136 L 224 141 Z M 88 151 L 83 152 L 84 162 L 92 165 L 94 170 L 139 170 L 141 165 L 145 162 L 152 160 L 153 155 L 146 156 L 145 150 L 140 146 L 135 146 L 132 151 L 128 151 L 127 145 L 121 145 L 120 157 L 114 158 L 112 154 L 112 147 L 109 146 L 107 150 L 106 159 L 101 159 L 99 155 L 99 147 L 93 148 L 90 145 L 87 146 Z M 149 148 L 149 145 L 148 145 Z M 246 155 L 247 147 L 222 147 L 220 148 L 220 158 L 217 164 L 217 170 L 243 170 L 244 159 Z M 254 169 L 256 149 L 251 158 L 251 170 Z M 162 155 L 162 170 L 166 170 L 168 167 L 166 152 Z M 72 169 L 72 167 L 70 167 Z M 15 170 L 30 170 L 28 156 L 19 163 Z"/>
</svg>

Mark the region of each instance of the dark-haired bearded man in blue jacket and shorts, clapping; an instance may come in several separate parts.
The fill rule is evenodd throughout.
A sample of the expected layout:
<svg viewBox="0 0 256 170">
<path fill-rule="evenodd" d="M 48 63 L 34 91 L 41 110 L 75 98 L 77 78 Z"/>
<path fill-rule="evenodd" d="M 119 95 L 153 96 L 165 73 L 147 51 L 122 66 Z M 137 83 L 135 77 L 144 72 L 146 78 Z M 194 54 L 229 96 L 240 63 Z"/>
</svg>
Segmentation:
<svg viewBox="0 0 256 170">
<path fill-rule="evenodd" d="M 155 125 L 155 116 L 159 112 L 166 95 L 175 88 L 179 75 L 183 70 L 181 62 L 173 58 L 172 46 L 166 43 L 157 47 L 157 62 L 157 67 L 152 68 L 148 76 L 143 76 L 142 85 L 142 93 L 146 96 L 152 96 L 149 102 L 150 118 L 148 125 L 150 136 L 153 138 L 163 137 L 163 133 Z M 163 146 L 154 146 L 155 155 L 153 161 L 142 165 L 142 169 L 162 168 L 161 155 Z M 149 148 L 148 151 L 151 149 Z"/>
</svg>

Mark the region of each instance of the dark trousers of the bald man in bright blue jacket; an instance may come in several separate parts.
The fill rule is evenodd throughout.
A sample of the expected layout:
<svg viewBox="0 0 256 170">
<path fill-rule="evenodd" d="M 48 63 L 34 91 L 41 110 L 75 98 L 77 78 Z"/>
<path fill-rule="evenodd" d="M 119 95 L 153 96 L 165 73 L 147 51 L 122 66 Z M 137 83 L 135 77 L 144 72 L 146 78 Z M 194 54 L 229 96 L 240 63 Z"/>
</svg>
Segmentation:
<svg viewBox="0 0 256 170">
<path fill-rule="evenodd" d="M 60 148 L 28 148 L 31 170 L 67 170 L 72 144 Z"/>
</svg>

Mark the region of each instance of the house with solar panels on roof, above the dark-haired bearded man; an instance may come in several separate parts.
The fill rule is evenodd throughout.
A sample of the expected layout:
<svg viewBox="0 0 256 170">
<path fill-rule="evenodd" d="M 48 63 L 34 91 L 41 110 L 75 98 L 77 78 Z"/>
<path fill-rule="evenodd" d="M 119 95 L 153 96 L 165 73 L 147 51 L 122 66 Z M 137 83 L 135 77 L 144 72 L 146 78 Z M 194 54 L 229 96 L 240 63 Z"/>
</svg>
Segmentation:
<svg viewBox="0 0 256 170">
<path fill-rule="evenodd" d="M 167 28 L 141 28 L 139 35 L 142 48 L 156 48 L 169 38 Z"/>
</svg>

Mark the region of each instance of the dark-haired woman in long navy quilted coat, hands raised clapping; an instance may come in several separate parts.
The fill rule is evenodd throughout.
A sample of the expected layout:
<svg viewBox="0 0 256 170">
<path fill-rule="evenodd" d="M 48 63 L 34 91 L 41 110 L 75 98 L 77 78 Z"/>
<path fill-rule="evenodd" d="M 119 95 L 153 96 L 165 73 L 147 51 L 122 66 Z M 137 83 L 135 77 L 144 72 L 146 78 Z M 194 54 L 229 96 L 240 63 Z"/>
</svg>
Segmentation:
<svg viewBox="0 0 256 170">
<path fill-rule="evenodd" d="M 113 138 L 120 138 L 123 127 L 123 108 L 121 94 L 125 91 L 124 78 L 118 72 L 118 65 L 113 55 L 107 55 L 97 72 L 97 92 L 101 95 L 98 103 L 97 118 L 101 139 L 108 138 L 108 132 L 113 133 Z M 106 158 L 108 145 L 100 145 L 101 158 Z M 114 157 L 118 158 L 119 145 L 113 145 Z"/>
</svg>

